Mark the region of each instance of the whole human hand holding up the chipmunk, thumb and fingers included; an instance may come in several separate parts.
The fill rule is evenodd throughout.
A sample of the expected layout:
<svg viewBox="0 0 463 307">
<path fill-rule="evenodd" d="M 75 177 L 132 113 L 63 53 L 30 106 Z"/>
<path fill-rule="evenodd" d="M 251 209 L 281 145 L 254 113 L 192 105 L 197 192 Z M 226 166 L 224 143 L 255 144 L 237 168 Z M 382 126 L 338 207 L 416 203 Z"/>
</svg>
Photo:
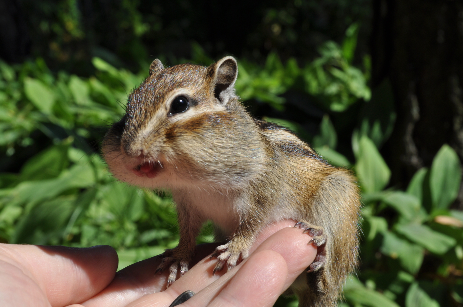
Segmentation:
<svg viewBox="0 0 463 307">
<path fill-rule="evenodd" d="M 167 273 L 154 275 L 160 262 L 156 257 L 120 270 L 113 279 L 117 256 L 109 246 L 2 244 L 0 299 L 6 302 L 2 306 L 169 306 L 193 290 L 197 294 L 183 306 L 272 306 L 317 252 L 307 244 L 307 234 L 285 228 L 293 225 L 269 226 L 254 244 L 257 249 L 230 272 L 212 275 L 215 259 L 207 257 L 165 291 Z M 212 253 L 216 245 L 198 246 L 196 258 Z"/>
</svg>

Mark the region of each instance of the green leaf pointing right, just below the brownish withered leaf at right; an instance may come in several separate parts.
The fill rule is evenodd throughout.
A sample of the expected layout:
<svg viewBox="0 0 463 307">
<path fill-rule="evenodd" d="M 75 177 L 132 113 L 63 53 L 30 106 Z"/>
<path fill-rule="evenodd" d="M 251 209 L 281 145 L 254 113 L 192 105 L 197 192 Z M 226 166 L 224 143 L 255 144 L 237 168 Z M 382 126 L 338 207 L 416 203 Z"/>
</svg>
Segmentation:
<svg viewBox="0 0 463 307">
<path fill-rule="evenodd" d="M 428 251 L 443 255 L 457 244 L 457 241 L 430 227 L 419 224 L 396 225 L 396 230 Z"/>
</svg>

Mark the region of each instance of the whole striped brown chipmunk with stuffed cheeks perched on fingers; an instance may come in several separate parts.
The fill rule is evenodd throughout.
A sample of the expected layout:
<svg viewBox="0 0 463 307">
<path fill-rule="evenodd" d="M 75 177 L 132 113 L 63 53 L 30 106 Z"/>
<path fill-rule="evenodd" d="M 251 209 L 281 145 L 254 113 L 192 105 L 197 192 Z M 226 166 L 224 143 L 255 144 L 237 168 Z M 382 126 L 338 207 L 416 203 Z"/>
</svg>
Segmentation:
<svg viewBox="0 0 463 307">
<path fill-rule="evenodd" d="M 293 219 L 318 252 L 290 292 L 302 307 L 336 306 L 357 265 L 355 178 L 288 129 L 252 117 L 235 94 L 237 75 L 231 56 L 209 67 L 154 60 L 107 132 L 103 155 L 116 178 L 172 191 L 180 242 L 157 269 L 169 270 L 168 285 L 187 272 L 205 221 L 228 240 L 213 253 L 215 272 L 248 257 L 266 225 Z"/>
</svg>

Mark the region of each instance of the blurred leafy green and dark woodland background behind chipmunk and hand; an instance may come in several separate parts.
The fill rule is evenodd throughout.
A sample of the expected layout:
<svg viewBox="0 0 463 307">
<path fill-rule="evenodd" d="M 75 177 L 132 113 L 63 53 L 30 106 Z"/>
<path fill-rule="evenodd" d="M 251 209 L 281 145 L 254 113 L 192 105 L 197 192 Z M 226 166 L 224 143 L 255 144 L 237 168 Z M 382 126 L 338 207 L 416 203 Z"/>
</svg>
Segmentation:
<svg viewBox="0 0 463 307">
<path fill-rule="evenodd" d="M 0 242 L 107 244 L 119 269 L 176 246 L 169 194 L 114 180 L 100 142 L 152 60 L 224 55 L 254 116 L 359 179 L 340 306 L 463 306 L 461 0 L 0 0 Z"/>
</svg>

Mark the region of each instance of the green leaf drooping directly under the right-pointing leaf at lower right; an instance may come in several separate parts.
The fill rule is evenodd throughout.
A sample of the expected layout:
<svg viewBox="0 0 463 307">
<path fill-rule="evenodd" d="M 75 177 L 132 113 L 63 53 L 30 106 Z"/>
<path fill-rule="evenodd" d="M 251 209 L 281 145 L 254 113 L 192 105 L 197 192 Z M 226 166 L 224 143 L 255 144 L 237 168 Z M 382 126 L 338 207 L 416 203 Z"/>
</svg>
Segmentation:
<svg viewBox="0 0 463 307">
<path fill-rule="evenodd" d="M 400 239 L 390 231 L 384 233 L 381 252 L 391 258 L 398 258 L 400 265 L 412 274 L 418 272 L 423 263 L 423 247 Z"/>
</svg>

